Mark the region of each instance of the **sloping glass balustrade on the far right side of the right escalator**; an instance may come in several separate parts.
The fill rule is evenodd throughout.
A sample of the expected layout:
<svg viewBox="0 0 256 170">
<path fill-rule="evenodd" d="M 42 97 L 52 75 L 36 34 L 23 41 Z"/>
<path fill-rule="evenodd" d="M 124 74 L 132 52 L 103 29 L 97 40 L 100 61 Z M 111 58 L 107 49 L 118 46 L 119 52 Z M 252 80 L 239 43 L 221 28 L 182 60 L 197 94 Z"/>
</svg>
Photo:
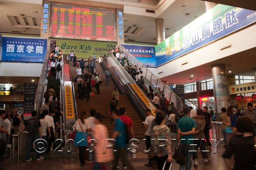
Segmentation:
<svg viewBox="0 0 256 170">
<path fill-rule="evenodd" d="M 167 85 L 165 85 L 160 79 L 157 78 L 145 65 L 143 65 L 137 58 L 135 58 L 123 45 L 119 46 L 120 51 L 123 51 L 125 58 L 131 63 L 133 66 L 137 65 L 137 68 L 141 68 L 143 71 L 142 75 L 144 79 L 146 79 L 155 90 L 157 87 L 160 88 L 161 91 L 164 91 L 165 98 L 170 102 L 173 102 L 176 110 L 180 112 L 182 110 L 182 100 L 179 98 Z"/>
</svg>

